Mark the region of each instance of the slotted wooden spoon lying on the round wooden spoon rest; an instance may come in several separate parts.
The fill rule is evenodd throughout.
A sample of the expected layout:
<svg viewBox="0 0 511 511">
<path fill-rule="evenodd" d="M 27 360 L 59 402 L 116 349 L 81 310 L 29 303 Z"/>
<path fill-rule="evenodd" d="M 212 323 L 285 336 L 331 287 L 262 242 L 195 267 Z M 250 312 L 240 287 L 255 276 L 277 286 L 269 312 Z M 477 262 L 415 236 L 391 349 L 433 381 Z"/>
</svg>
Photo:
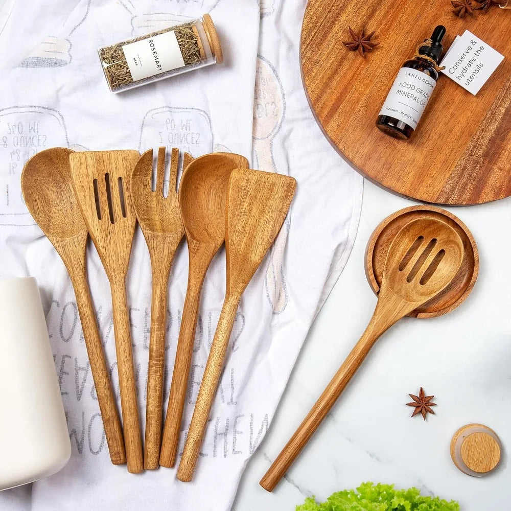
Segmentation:
<svg viewBox="0 0 511 511">
<path fill-rule="evenodd" d="M 378 338 L 446 288 L 463 259 L 458 233 L 433 218 L 404 225 L 390 245 L 378 303 L 369 324 L 332 381 L 277 456 L 259 484 L 271 492 L 330 411 Z"/>
</svg>

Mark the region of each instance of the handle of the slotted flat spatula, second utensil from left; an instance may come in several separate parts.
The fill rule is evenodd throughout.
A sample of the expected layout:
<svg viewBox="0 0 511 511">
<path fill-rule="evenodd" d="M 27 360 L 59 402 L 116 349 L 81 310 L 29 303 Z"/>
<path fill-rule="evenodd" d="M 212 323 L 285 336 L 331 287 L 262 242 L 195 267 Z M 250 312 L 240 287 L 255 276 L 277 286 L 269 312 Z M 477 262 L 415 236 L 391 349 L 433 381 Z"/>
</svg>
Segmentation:
<svg viewBox="0 0 511 511">
<path fill-rule="evenodd" d="M 113 328 L 115 332 L 115 351 L 119 371 L 121 391 L 121 408 L 123 414 L 124 444 L 128 472 L 136 474 L 144 469 L 142 455 L 142 438 L 136 403 L 136 383 L 133 370 L 133 354 L 126 303 L 126 286 L 124 276 L 111 281 Z"/>
</svg>

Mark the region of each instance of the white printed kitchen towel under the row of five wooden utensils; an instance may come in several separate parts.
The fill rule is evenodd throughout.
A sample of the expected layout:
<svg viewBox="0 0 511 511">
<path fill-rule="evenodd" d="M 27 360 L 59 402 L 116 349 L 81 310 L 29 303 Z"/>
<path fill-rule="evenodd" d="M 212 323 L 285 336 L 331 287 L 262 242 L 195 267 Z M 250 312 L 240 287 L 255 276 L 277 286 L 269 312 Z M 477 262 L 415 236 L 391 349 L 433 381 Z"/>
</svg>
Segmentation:
<svg viewBox="0 0 511 511">
<path fill-rule="evenodd" d="M 360 214 L 362 178 L 322 135 L 301 84 L 298 52 L 305 3 L 31 0 L 28 8 L 27 2 L 6 0 L 0 11 L 1 60 L 7 67 L 0 76 L 0 276 L 38 279 L 73 454 L 60 473 L 0 493 L 0 509 L 230 508 L 310 325 L 349 256 Z M 211 12 L 218 28 L 223 65 L 111 94 L 97 47 L 204 12 Z M 177 481 L 175 469 L 132 475 L 126 467 L 110 463 L 73 289 L 57 253 L 28 214 L 19 182 L 25 161 L 49 147 L 142 152 L 159 145 L 179 147 L 193 156 L 215 150 L 252 155 L 252 167 L 298 181 L 285 225 L 242 298 L 192 483 Z M 109 287 L 92 246 L 87 264 L 119 396 Z M 147 247 L 137 228 L 128 302 L 142 424 L 150 275 Z M 187 275 L 183 243 L 169 287 L 165 403 Z M 222 306 L 224 282 L 222 250 L 204 282 L 180 449 Z"/>
</svg>

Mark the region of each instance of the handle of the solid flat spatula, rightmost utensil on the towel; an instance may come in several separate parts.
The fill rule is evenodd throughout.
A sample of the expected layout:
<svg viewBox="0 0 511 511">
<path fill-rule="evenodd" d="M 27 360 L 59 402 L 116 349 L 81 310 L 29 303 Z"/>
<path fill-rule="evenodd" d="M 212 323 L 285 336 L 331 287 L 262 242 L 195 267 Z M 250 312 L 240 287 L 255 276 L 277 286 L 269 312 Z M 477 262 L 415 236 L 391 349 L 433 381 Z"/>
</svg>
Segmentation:
<svg viewBox="0 0 511 511">
<path fill-rule="evenodd" d="M 183 455 L 177 470 L 177 478 L 180 481 L 189 482 L 193 477 L 207 419 L 210 416 L 222 373 L 225 352 L 229 344 L 230 334 L 233 331 L 239 300 L 239 296 L 225 297 L 215 337 L 211 345 L 210 355 L 207 357 L 206 368 L 204 369 L 199 396 L 197 397 L 192 422 L 188 430 L 187 441 L 184 444 Z"/>
</svg>

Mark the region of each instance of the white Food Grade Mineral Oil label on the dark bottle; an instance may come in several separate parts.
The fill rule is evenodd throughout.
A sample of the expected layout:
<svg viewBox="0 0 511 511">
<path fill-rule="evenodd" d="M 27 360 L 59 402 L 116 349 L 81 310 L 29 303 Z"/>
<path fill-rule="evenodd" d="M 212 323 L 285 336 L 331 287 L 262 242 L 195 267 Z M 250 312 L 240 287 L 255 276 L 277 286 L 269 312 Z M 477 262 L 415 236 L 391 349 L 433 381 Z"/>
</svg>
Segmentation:
<svg viewBox="0 0 511 511">
<path fill-rule="evenodd" d="M 383 103 L 380 115 L 389 115 L 415 129 L 435 86 L 435 80 L 426 73 L 402 67 Z"/>
</svg>

